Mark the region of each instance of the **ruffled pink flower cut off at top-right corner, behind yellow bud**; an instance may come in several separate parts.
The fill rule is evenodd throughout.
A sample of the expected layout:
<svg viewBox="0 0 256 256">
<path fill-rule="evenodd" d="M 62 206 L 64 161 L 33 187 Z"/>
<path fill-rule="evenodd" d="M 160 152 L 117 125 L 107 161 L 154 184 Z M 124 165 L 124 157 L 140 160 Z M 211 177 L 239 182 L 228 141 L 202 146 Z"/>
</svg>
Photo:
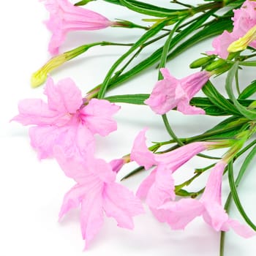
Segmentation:
<svg viewBox="0 0 256 256">
<path fill-rule="evenodd" d="M 233 31 L 224 31 L 219 37 L 214 38 L 212 46 L 213 51 L 208 51 L 207 54 L 219 55 L 222 59 L 226 59 L 228 56 L 228 46 L 239 39 L 256 25 L 256 2 L 246 0 L 244 4 L 238 10 L 233 10 Z M 249 43 L 249 46 L 256 48 L 256 40 Z"/>
</svg>

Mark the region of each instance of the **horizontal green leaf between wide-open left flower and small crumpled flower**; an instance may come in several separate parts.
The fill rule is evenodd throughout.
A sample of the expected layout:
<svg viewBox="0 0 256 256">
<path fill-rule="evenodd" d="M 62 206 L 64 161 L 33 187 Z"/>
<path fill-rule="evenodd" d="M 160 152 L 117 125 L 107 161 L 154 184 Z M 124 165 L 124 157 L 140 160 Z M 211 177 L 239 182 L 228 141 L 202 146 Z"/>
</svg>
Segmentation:
<svg viewBox="0 0 256 256">
<path fill-rule="evenodd" d="M 135 105 L 145 105 L 144 101 L 148 99 L 150 94 L 124 94 L 105 97 L 110 102 L 121 102 Z"/>
</svg>

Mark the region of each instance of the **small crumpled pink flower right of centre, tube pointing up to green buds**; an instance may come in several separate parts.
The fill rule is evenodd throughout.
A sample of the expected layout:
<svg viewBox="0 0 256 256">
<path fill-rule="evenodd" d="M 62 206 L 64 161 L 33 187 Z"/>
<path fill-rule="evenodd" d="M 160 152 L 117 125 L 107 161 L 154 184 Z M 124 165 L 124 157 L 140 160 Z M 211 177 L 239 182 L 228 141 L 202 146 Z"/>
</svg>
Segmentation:
<svg viewBox="0 0 256 256">
<path fill-rule="evenodd" d="M 150 97 L 145 100 L 146 105 L 160 115 L 176 107 L 184 114 L 205 113 L 203 109 L 189 105 L 189 101 L 210 78 L 209 72 L 197 72 L 186 78 L 176 79 L 170 75 L 168 69 L 162 68 L 160 71 L 164 79 L 159 80 L 154 86 Z"/>
</svg>

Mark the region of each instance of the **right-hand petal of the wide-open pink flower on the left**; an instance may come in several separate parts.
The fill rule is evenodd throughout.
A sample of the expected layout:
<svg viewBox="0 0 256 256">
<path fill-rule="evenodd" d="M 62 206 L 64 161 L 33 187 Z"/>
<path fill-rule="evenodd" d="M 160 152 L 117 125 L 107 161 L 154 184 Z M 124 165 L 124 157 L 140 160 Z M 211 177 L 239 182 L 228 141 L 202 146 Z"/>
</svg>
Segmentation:
<svg viewBox="0 0 256 256">
<path fill-rule="evenodd" d="M 91 99 L 85 108 L 80 110 L 81 118 L 86 127 L 95 134 L 106 136 L 117 129 L 112 116 L 120 107 L 105 99 Z"/>
</svg>

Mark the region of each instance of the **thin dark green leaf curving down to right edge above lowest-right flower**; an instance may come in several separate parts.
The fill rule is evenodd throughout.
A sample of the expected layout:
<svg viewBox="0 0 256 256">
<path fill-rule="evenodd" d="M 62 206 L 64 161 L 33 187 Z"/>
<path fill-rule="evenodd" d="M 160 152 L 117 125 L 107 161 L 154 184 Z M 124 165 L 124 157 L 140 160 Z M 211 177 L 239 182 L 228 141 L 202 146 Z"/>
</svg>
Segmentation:
<svg viewBox="0 0 256 256">
<path fill-rule="evenodd" d="M 252 158 L 255 157 L 255 154 L 256 154 L 256 147 L 252 148 L 252 151 L 246 157 L 246 159 L 245 159 L 245 161 L 246 161 L 245 166 L 246 167 L 247 167 L 247 165 L 249 165 L 249 162 L 252 161 Z M 247 216 L 246 212 L 244 211 L 243 206 L 241 205 L 241 201 L 240 201 L 240 199 L 238 197 L 238 192 L 237 192 L 237 189 L 236 189 L 237 186 L 236 186 L 236 183 L 234 181 L 234 176 L 233 176 L 233 162 L 232 161 L 229 163 L 227 170 L 228 170 L 228 181 L 229 181 L 229 184 L 230 184 L 230 192 L 231 192 L 233 200 L 234 200 L 234 202 L 236 204 L 236 207 L 238 208 L 238 211 L 240 212 L 241 216 L 244 218 L 246 223 L 250 227 L 252 227 L 253 230 L 256 231 L 255 224 Z"/>
</svg>

